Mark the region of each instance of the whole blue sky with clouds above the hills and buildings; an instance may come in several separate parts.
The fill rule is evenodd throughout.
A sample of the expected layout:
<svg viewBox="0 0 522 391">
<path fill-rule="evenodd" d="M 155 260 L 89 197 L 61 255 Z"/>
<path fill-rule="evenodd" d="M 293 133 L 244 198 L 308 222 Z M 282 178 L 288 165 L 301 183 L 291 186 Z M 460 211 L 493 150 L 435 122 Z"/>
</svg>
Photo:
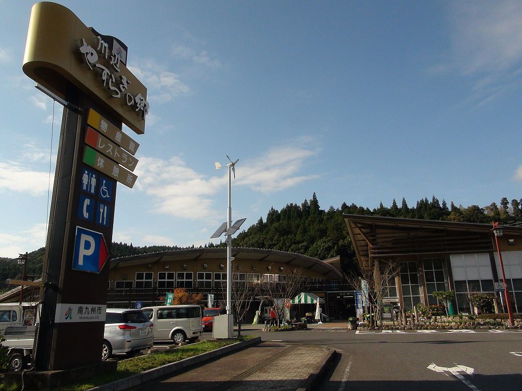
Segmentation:
<svg viewBox="0 0 522 391">
<path fill-rule="evenodd" d="M 129 47 L 148 88 L 114 241 L 204 245 L 226 220 L 316 192 L 328 209 L 403 197 L 522 198 L 522 3 L 59 2 Z M 33 2 L 0 0 L 0 256 L 45 245 L 62 107 L 21 70 Z M 54 125 L 53 125 L 54 110 Z M 51 179 L 49 177 L 51 163 Z"/>
</svg>

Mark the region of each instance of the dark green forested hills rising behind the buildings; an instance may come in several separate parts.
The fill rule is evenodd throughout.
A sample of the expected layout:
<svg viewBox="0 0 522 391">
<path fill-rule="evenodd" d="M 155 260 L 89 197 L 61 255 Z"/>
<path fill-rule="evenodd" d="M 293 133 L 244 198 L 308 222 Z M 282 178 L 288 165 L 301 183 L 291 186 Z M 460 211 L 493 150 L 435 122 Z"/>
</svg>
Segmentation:
<svg viewBox="0 0 522 391">
<path fill-rule="evenodd" d="M 348 230 L 342 215 L 360 214 L 371 216 L 390 216 L 402 218 L 417 218 L 425 220 L 444 220 L 467 223 L 490 224 L 492 221 L 501 224 L 516 224 L 522 221 L 520 207 L 522 199 L 502 198 L 500 204 L 492 202 L 480 207 L 470 205 L 456 206 L 453 202 L 447 205 L 435 196 L 417 201 L 415 206 L 409 206 L 403 198 L 400 205 L 393 200 L 386 207 L 381 202 L 379 207 L 370 210 L 367 207 L 343 202 L 340 207 L 330 206 L 321 209 L 315 193 L 310 200 L 304 200 L 300 205 L 290 203 L 281 210 L 271 207 L 265 219 L 259 217 L 256 224 L 242 231 L 232 240 L 234 247 L 250 247 L 295 252 L 312 256 L 317 259 L 327 259 L 340 255 L 341 259 L 351 260 L 354 257 L 353 247 L 348 236 Z M 225 247 L 226 243 L 218 245 L 208 243 L 204 248 Z M 188 248 L 195 248 L 194 246 Z M 182 250 L 187 248 L 177 246 L 144 246 L 134 247 L 132 243 L 112 243 L 112 258 L 138 255 L 158 251 Z M 27 274 L 40 278 L 44 258 L 44 248 L 29 253 Z M 10 288 L 5 280 L 21 278 L 22 267 L 16 261 L 0 258 L 0 291 Z"/>
</svg>

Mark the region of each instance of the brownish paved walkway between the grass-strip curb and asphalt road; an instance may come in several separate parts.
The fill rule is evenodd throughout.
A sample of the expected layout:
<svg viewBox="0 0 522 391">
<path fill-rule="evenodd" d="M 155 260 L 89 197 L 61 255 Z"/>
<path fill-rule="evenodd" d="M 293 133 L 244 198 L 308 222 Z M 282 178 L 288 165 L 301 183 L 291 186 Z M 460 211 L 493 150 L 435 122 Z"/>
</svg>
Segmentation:
<svg viewBox="0 0 522 391">
<path fill-rule="evenodd" d="M 134 391 L 294 391 L 312 389 L 333 350 L 265 341 Z"/>
</svg>

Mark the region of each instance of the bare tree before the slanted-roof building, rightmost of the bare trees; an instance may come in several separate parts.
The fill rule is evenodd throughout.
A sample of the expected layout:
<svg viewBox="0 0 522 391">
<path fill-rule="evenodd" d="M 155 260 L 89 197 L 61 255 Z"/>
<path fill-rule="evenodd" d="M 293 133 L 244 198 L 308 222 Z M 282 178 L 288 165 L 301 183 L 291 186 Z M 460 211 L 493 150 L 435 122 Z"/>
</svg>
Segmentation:
<svg viewBox="0 0 522 391">
<path fill-rule="evenodd" d="M 382 309 L 384 307 L 383 298 L 389 296 L 389 288 L 395 287 L 395 277 L 399 274 L 399 266 L 391 261 L 373 260 L 370 268 L 363 269 L 359 265 L 359 273 L 352 272 L 346 275 L 348 284 L 355 290 L 361 290 L 361 279 L 368 283 L 368 299 L 370 301 L 370 314 L 372 308 L 375 309 L 375 325 L 383 325 Z M 393 316 L 393 315 L 392 315 Z M 370 325 L 372 317 L 370 316 Z"/>
</svg>

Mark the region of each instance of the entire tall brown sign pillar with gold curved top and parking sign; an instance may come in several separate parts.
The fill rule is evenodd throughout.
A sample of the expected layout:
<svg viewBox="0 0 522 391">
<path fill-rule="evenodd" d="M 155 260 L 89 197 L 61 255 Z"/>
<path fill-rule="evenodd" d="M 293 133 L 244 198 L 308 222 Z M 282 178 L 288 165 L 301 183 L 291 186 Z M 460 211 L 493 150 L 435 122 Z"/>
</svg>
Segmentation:
<svg viewBox="0 0 522 391">
<path fill-rule="evenodd" d="M 32 8 L 23 71 L 65 105 L 33 349 L 39 371 L 101 361 L 116 184 L 137 179 L 139 144 L 122 123 L 144 133 L 148 113 L 126 52 L 61 5 Z"/>
</svg>

